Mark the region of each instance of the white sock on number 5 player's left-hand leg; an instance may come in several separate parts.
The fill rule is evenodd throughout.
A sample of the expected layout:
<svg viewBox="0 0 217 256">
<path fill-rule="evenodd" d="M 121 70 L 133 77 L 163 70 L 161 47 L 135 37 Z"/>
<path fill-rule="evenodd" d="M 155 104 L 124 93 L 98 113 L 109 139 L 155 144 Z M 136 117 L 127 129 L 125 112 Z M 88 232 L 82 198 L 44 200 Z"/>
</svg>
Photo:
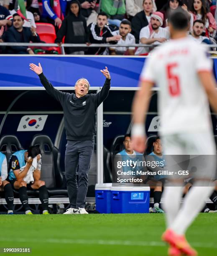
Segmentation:
<svg viewBox="0 0 217 256">
<path fill-rule="evenodd" d="M 183 194 L 183 187 L 164 187 L 163 195 L 164 203 L 163 210 L 166 212 L 167 228 L 170 228 L 179 211 L 180 200 Z"/>
</svg>

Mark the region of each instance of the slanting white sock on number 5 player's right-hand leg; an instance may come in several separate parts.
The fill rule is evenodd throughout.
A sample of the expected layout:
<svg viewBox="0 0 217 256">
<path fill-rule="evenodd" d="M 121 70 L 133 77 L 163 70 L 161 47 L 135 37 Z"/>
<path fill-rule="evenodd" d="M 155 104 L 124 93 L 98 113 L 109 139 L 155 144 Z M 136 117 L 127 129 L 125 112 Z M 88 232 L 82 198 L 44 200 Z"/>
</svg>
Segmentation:
<svg viewBox="0 0 217 256">
<path fill-rule="evenodd" d="M 171 228 L 179 235 L 183 235 L 186 229 L 194 221 L 204 206 L 204 201 L 213 192 L 214 187 L 191 187 L 187 193 Z"/>
</svg>

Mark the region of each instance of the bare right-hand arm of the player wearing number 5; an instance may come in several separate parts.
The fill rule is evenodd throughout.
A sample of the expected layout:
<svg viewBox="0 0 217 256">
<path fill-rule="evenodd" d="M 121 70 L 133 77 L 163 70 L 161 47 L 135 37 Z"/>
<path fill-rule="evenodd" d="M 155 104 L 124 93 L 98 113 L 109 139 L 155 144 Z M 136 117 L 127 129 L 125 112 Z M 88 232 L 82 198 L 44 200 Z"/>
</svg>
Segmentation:
<svg viewBox="0 0 217 256">
<path fill-rule="evenodd" d="M 209 104 L 215 113 L 217 113 L 217 84 L 215 82 L 212 71 L 198 72 L 199 79 L 207 93 Z"/>
</svg>

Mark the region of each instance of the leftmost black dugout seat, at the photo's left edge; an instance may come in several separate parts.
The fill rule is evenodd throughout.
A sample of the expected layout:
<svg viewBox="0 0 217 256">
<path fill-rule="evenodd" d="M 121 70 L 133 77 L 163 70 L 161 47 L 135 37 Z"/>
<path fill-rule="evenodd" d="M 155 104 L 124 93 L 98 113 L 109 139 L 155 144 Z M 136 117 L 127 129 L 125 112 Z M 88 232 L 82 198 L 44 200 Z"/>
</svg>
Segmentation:
<svg viewBox="0 0 217 256">
<path fill-rule="evenodd" d="M 5 135 L 0 139 L 0 151 L 5 154 L 7 161 L 18 150 L 23 150 L 23 147 L 15 135 Z"/>
</svg>

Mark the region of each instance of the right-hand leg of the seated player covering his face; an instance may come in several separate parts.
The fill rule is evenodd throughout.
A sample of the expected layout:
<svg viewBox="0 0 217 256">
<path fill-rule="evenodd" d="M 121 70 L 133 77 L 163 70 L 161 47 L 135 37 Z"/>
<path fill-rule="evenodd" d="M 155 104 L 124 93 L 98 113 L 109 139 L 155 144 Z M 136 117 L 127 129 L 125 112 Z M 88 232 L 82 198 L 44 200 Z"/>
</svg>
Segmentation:
<svg viewBox="0 0 217 256">
<path fill-rule="evenodd" d="M 45 186 L 45 182 L 43 180 L 36 180 L 31 184 L 32 189 L 37 189 L 39 191 L 39 199 L 41 201 L 41 206 L 43 210 L 43 214 L 49 214 L 48 212 L 48 190 Z"/>
</svg>

